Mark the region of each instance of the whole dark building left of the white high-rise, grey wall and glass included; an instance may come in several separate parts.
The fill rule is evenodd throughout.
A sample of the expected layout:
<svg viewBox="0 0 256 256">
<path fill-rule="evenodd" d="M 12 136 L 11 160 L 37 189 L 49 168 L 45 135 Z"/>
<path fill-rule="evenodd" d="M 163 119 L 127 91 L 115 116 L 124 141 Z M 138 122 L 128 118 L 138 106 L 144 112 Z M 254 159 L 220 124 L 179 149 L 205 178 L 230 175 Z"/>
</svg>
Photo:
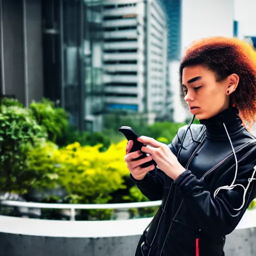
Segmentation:
<svg viewBox="0 0 256 256">
<path fill-rule="evenodd" d="M 103 112 L 101 0 L 1 0 L 0 94 L 45 96 L 80 130 Z"/>
</svg>

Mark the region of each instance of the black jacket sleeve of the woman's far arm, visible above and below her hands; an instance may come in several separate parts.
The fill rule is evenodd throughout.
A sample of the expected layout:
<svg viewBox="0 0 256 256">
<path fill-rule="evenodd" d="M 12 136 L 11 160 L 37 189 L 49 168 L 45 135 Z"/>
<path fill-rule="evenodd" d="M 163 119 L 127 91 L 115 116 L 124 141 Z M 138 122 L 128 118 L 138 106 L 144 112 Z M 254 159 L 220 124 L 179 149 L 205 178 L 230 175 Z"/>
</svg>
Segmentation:
<svg viewBox="0 0 256 256">
<path fill-rule="evenodd" d="M 168 145 L 170 150 L 177 156 L 177 152 L 181 145 L 181 140 L 186 129 L 186 125 L 179 128 L 177 134 L 173 138 L 172 142 Z M 137 180 L 130 173 L 131 179 L 135 182 L 138 189 L 144 194 L 149 200 L 161 200 L 163 195 L 164 179 L 166 174 L 154 168 L 152 171 L 146 173 L 143 179 Z"/>
</svg>

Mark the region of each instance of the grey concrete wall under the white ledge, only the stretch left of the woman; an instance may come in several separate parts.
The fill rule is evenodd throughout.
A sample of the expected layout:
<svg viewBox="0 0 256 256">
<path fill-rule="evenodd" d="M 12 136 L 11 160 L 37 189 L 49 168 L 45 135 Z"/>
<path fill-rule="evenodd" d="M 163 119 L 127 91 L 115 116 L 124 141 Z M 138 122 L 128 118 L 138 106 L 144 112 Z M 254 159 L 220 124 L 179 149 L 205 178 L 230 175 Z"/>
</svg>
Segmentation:
<svg viewBox="0 0 256 256">
<path fill-rule="evenodd" d="M 0 256 L 133 256 L 139 236 L 41 237 L 0 233 Z"/>
</svg>

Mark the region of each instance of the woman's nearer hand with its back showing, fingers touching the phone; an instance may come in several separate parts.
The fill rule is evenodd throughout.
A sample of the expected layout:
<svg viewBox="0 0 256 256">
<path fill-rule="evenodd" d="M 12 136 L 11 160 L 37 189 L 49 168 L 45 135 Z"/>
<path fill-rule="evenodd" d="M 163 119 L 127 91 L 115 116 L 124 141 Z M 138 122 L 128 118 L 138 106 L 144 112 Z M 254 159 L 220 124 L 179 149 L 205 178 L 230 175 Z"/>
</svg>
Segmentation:
<svg viewBox="0 0 256 256">
<path fill-rule="evenodd" d="M 141 151 L 150 154 L 158 165 L 158 168 L 175 180 L 185 168 L 178 162 L 177 157 L 171 152 L 168 145 L 147 136 L 138 137 L 138 141 L 146 146 Z"/>
</svg>

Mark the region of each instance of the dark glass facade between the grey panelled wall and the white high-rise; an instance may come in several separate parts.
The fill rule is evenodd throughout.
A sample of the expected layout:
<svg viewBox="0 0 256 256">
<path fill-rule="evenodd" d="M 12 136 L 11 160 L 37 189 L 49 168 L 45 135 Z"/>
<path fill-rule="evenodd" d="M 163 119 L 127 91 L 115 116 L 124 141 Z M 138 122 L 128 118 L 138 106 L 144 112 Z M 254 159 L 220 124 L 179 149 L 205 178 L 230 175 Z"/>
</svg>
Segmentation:
<svg viewBox="0 0 256 256">
<path fill-rule="evenodd" d="M 103 110 L 101 0 L 44 0 L 44 94 L 80 130 Z"/>
</svg>

